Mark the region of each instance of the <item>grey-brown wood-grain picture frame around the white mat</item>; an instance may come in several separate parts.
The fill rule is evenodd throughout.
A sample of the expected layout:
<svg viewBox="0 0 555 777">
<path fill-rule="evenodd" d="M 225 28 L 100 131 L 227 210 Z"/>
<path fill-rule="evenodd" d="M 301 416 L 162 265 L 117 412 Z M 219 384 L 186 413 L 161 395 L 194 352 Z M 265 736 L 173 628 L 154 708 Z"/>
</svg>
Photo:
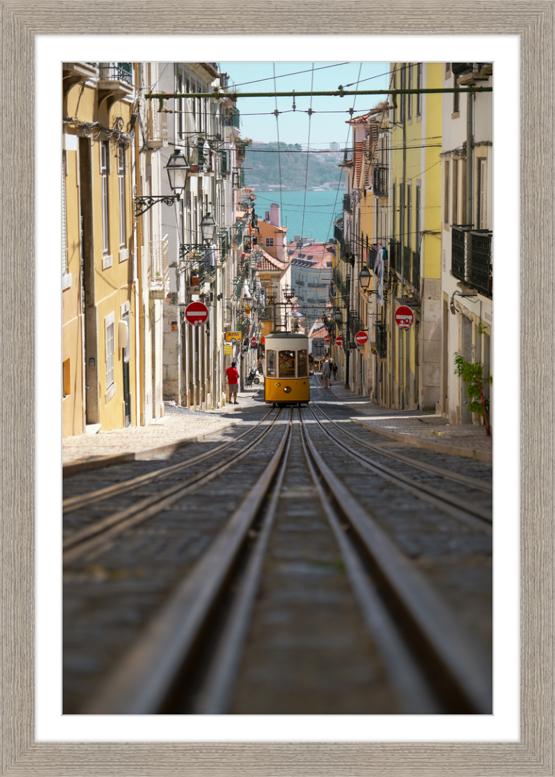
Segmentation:
<svg viewBox="0 0 555 777">
<path fill-rule="evenodd" d="M 121 0 L 99 8 L 40 0 L 2 2 L 2 207 L 0 235 L 5 272 L 2 316 L 2 765 L 1 775 L 159 777 L 159 775 L 553 775 L 553 0 L 489 0 L 470 9 L 469 33 L 519 35 L 521 40 L 521 738 L 500 743 L 36 743 L 34 738 L 33 610 L 33 40 L 37 34 L 135 34 L 186 30 L 213 33 L 226 14 L 229 34 L 252 33 L 259 15 L 267 29 L 349 34 L 352 20 L 329 2 L 297 4 L 287 19 L 283 3 L 251 7 L 229 17 L 217 3 Z M 354 9 L 353 9 L 354 12 Z M 210 18 L 209 18 L 210 16 Z M 357 32 L 460 34 L 463 7 L 431 0 L 357 5 Z M 125 28 L 123 28 L 125 25 Z M 53 79 L 53 89 L 57 82 Z M 516 117 L 508 117 L 516 120 Z M 26 228 L 22 228 L 26 225 Z M 11 268 L 9 270 L 8 268 Z M 516 282 L 516 279 L 515 279 Z M 524 304 L 527 302 L 528 304 Z M 515 312 L 516 315 L 516 312 Z M 519 347 L 515 343 L 515 348 Z M 549 354 L 552 354 L 550 357 Z M 541 403 L 543 402 L 543 406 Z M 538 406 L 543 416 L 537 419 Z M 519 408 L 515 408 L 515 413 Z"/>
</svg>

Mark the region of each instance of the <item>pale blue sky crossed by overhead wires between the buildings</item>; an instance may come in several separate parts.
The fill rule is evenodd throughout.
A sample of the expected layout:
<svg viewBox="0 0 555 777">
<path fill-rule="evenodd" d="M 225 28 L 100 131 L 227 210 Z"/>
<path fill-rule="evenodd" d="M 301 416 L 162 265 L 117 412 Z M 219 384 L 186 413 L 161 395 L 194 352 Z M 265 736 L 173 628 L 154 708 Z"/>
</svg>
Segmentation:
<svg viewBox="0 0 555 777">
<path fill-rule="evenodd" d="M 389 87 L 387 62 L 220 62 L 220 69 L 230 76 L 231 91 L 236 85 L 241 92 L 271 92 L 269 97 L 238 99 L 241 137 L 271 143 L 277 141 L 279 132 L 279 141 L 300 143 L 304 148 L 309 144 L 309 129 L 310 148 L 329 148 L 333 142 L 345 148 L 349 138 L 349 126 L 345 124 L 349 119 L 349 108 L 354 107 L 353 115 L 357 116 L 385 97 L 296 97 L 297 110 L 293 111 L 293 98 L 276 98 L 275 90 L 322 92 L 337 89 L 339 85 L 354 90 L 357 82 L 360 89 Z M 279 114 L 277 123 L 273 113 L 276 99 L 277 109 L 284 112 Z M 310 107 L 314 114 L 309 120 L 306 112 Z"/>
</svg>

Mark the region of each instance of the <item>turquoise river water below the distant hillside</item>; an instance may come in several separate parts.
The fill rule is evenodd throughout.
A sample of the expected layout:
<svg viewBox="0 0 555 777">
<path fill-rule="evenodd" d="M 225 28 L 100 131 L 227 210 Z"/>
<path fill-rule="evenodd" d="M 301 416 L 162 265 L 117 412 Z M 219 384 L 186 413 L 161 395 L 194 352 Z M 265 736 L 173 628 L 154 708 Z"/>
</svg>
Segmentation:
<svg viewBox="0 0 555 777">
<path fill-rule="evenodd" d="M 288 228 L 288 243 L 301 234 L 301 228 L 303 237 L 325 242 L 333 239 L 334 217 L 342 211 L 344 192 L 344 185 L 340 190 L 307 190 L 306 198 L 304 190 L 285 190 L 281 194 L 279 190 L 255 190 L 255 212 L 258 218 L 264 218 L 265 211 L 275 202 L 280 205 L 281 224 Z"/>
</svg>

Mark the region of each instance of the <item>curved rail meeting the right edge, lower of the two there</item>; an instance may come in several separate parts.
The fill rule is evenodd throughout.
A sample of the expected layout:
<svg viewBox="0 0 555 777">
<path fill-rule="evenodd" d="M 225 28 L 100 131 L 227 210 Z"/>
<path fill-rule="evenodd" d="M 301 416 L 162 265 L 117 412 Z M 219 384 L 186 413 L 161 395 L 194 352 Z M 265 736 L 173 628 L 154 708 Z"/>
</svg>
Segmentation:
<svg viewBox="0 0 555 777">
<path fill-rule="evenodd" d="M 336 439 L 324 427 L 321 420 L 316 417 L 312 407 L 309 409 L 314 420 L 319 424 L 324 434 L 326 434 L 338 448 L 342 448 L 347 455 L 351 456 L 351 458 L 355 458 L 356 461 L 360 462 L 367 469 L 376 472 L 376 474 L 389 480 L 390 483 L 394 483 L 396 486 L 401 485 L 402 488 L 404 488 L 405 491 L 408 491 L 408 493 L 411 493 L 413 497 L 417 497 L 420 500 L 428 502 L 428 504 L 432 504 L 434 507 L 438 507 L 443 512 L 457 518 L 459 521 L 463 521 L 472 528 L 482 531 L 484 534 L 491 534 L 493 518 L 491 517 L 489 510 L 483 510 L 479 505 L 470 505 L 469 507 L 462 508 L 460 507 L 460 500 L 452 494 L 433 489 L 431 486 L 425 486 L 422 483 L 417 483 L 415 480 L 402 475 L 401 472 L 396 472 L 394 469 L 389 469 L 386 465 L 373 462 L 372 459 L 366 458 L 362 453 L 354 451 L 352 448 L 349 448 L 349 445 L 345 445 Z"/>
</svg>

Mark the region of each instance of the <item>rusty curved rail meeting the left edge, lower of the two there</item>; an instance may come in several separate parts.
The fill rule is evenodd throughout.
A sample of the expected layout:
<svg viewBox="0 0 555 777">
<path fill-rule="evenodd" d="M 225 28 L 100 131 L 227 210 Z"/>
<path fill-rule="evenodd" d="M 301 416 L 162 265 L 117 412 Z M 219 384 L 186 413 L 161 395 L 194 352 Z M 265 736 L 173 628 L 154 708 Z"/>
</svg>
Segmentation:
<svg viewBox="0 0 555 777">
<path fill-rule="evenodd" d="M 148 518 L 185 497 L 186 494 L 198 489 L 199 486 L 210 483 L 210 480 L 225 472 L 235 462 L 244 458 L 252 448 L 255 448 L 269 434 L 279 415 L 280 412 L 276 413 L 276 416 L 272 418 L 262 434 L 251 440 L 240 453 L 228 456 L 223 462 L 214 465 L 206 472 L 193 476 L 185 484 L 176 483 L 175 486 L 165 490 L 164 493 L 155 493 L 151 497 L 145 497 L 139 502 L 130 505 L 130 507 L 125 507 L 123 510 L 102 518 L 101 521 L 96 521 L 95 524 L 75 531 L 71 536 L 65 538 L 62 543 L 62 562 L 67 565 L 76 561 L 85 553 L 99 549 L 107 539 L 111 540 L 127 528 L 147 521 Z"/>
</svg>

